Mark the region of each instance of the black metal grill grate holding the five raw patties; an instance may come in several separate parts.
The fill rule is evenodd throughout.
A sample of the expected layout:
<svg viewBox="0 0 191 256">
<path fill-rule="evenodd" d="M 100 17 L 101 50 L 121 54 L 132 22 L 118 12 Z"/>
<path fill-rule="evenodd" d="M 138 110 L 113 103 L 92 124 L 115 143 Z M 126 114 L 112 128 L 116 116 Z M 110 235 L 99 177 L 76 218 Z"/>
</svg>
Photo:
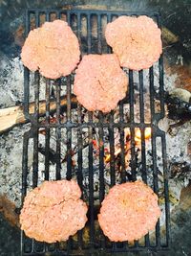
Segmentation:
<svg viewBox="0 0 191 256">
<path fill-rule="evenodd" d="M 60 17 L 61 13 L 65 13 L 67 15 L 67 21 L 70 24 L 72 14 L 76 14 L 77 21 L 80 20 L 81 15 L 87 15 L 87 30 L 88 32 L 91 31 L 91 23 L 90 17 L 92 14 L 97 15 L 97 23 L 98 23 L 98 30 L 100 29 L 100 16 L 107 15 L 107 21 L 110 22 L 112 15 L 147 15 L 150 17 L 155 17 L 157 19 L 157 23 L 159 28 L 161 29 L 161 18 L 159 12 L 117 12 L 117 11 L 97 11 L 97 10 L 68 10 L 68 11 L 61 11 L 61 10 L 27 10 L 26 12 L 26 36 L 30 32 L 30 14 L 35 14 L 35 25 L 36 27 L 39 26 L 39 14 L 45 13 L 46 20 L 50 20 L 51 13 L 56 13 L 57 17 Z M 77 36 L 80 36 L 80 25 L 77 22 Z M 101 53 L 101 38 L 99 37 L 99 33 L 97 34 L 98 39 L 98 49 L 97 53 Z M 87 36 L 87 53 L 91 53 L 91 35 L 88 33 Z M 111 53 L 111 48 L 108 47 L 108 53 Z M 23 163 L 22 163 L 22 201 L 25 198 L 27 193 L 27 177 L 28 177 L 28 147 L 29 147 L 29 139 L 32 138 L 33 140 L 33 175 L 32 175 L 32 187 L 37 186 L 38 180 L 38 130 L 39 128 L 45 128 L 46 131 L 46 152 L 45 152 L 45 179 L 49 179 L 49 148 L 50 148 L 50 130 L 51 128 L 56 129 L 56 179 L 60 179 L 60 143 L 59 139 L 61 137 L 60 130 L 62 128 L 67 129 L 67 149 L 68 151 L 71 150 L 72 141 L 72 128 L 77 128 L 79 132 L 78 136 L 78 144 L 82 145 L 82 128 L 89 128 L 89 188 L 90 188 L 90 198 L 89 198 L 89 218 L 90 218 L 90 241 L 91 245 L 87 249 L 82 249 L 79 245 L 77 250 L 71 249 L 72 247 L 72 240 L 70 239 L 65 251 L 59 251 L 58 244 L 55 244 L 55 249 L 53 251 L 49 250 L 48 245 L 44 244 L 44 248 L 42 251 L 35 251 L 35 242 L 32 240 L 32 251 L 26 252 L 25 251 L 25 238 L 24 233 L 21 231 L 21 252 L 22 255 L 45 255 L 46 252 L 50 252 L 51 255 L 84 255 L 85 253 L 96 253 L 98 251 L 101 252 L 130 252 L 130 251 L 140 251 L 146 250 L 148 251 L 158 251 L 158 250 L 166 250 L 169 249 L 170 246 L 170 211 L 169 211 L 169 198 L 168 198 L 168 170 L 167 170 L 167 160 L 166 160 L 166 142 L 165 142 L 165 133 L 158 128 L 158 122 L 161 118 L 164 117 L 164 88 L 163 88 L 163 60 L 162 56 L 159 58 L 159 93 L 156 93 L 154 87 L 154 69 L 153 66 L 149 69 L 149 82 L 150 82 L 150 107 L 151 107 L 151 124 L 145 124 L 144 122 L 144 99 L 143 99 L 143 73 L 142 71 L 138 72 L 138 79 L 139 79 L 139 111 L 140 111 L 140 122 L 135 122 L 135 113 L 134 113 L 134 87 L 133 87 L 133 71 L 129 71 L 129 105 L 130 105 L 130 121 L 125 123 L 123 120 L 123 101 L 119 103 L 119 113 L 120 119 L 118 123 L 114 123 L 114 111 L 111 111 L 110 114 L 110 121 L 108 123 L 103 123 L 103 114 L 99 113 L 99 122 L 94 123 L 93 121 L 93 113 L 89 112 L 89 121 L 82 123 L 81 120 L 81 105 L 77 105 L 78 111 L 78 123 L 72 122 L 71 116 L 71 76 L 67 77 L 67 122 L 60 123 L 60 80 L 57 80 L 56 86 L 56 117 L 57 121 L 55 124 L 50 124 L 50 80 L 46 80 L 46 122 L 41 124 L 39 122 L 39 73 L 35 72 L 34 74 L 34 99 L 35 99 L 35 107 L 34 107 L 34 114 L 31 115 L 29 113 L 29 99 L 30 99 L 30 71 L 24 67 L 24 114 L 27 120 L 32 123 L 32 128 L 29 132 L 25 133 L 24 135 L 24 145 L 23 145 Z M 160 104 L 160 112 L 155 112 L 155 100 L 159 99 Z M 117 245 L 117 243 L 113 243 L 111 248 L 104 247 L 105 239 L 100 241 L 101 246 L 96 247 L 94 244 L 95 241 L 95 226 L 94 226 L 94 192 L 93 192 L 93 185 L 94 185 L 94 170 L 93 170 L 93 128 L 99 129 L 99 138 L 103 140 L 103 128 L 108 128 L 110 132 L 110 151 L 111 151 L 111 185 L 115 185 L 115 168 L 114 168 L 114 152 L 115 152 L 115 145 L 114 145 L 114 128 L 120 129 L 120 146 L 121 146 L 121 166 L 122 170 L 125 169 L 124 165 L 124 128 L 130 128 L 131 130 L 131 155 L 132 155 L 132 169 L 136 166 L 136 153 L 135 153 L 135 128 L 140 128 L 141 131 L 141 161 L 143 166 L 142 171 L 142 179 L 145 183 L 147 183 L 147 175 L 146 175 L 146 162 L 145 162 L 145 140 L 144 140 L 144 128 L 152 128 L 152 154 L 153 154 L 153 168 L 154 168 L 154 191 L 158 194 L 159 187 L 158 187 L 158 169 L 157 169 L 157 149 L 156 149 L 156 138 L 161 138 L 161 146 L 162 146 L 162 161 L 163 161 L 163 176 L 164 176 L 164 195 L 165 195 L 165 216 L 166 216 L 166 245 L 160 245 L 160 231 L 159 231 L 159 222 L 156 227 L 156 246 L 151 246 L 149 244 L 149 237 L 148 235 L 145 236 L 145 246 L 139 246 L 138 242 L 134 244 L 134 246 L 129 246 L 127 243 L 120 243 L 123 244 L 121 247 Z M 104 148 L 103 146 L 99 147 L 99 160 L 100 160 L 100 172 L 99 172 L 99 179 L 100 179 L 100 191 L 99 191 L 99 199 L 102 201 L 104 198 L 104 177 L 103 177 L 103 170 L 104 170 L 104 163 L 103 163 L 103 154 Z M 82 151 L 78 152 L 78 174 L 77 174 L 77 181 L 80 187 L 82 187 Z M 123 172 L 122 172 L 123 174 Z M 72 156 L 68 155 L 67 157 L 67 179 L 72 178 Z M 133 173 L 133 179 L 136 180 L 136 174 Z M 121 175 L 121 181 L 125 182 L 126 177 L 125 175 Z M 78 232 L 78 241 L 79 244 L 82 244 L 82 232 Z"/>
</svg>

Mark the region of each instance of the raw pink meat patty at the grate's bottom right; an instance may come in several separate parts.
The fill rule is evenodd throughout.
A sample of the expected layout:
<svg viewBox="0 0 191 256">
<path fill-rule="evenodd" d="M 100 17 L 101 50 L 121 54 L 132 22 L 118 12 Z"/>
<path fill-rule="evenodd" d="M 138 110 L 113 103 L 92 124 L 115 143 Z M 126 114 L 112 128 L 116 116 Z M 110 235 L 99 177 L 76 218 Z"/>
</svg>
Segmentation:
<svg viewBox="0 0 191 256">
<path fill-rule="evenodd" d="M 114 186 L 102 202 L 98 222 L 114 242 L 134 241 L 156 226 L 158 197 L 141 181 Z"/>
</svg>

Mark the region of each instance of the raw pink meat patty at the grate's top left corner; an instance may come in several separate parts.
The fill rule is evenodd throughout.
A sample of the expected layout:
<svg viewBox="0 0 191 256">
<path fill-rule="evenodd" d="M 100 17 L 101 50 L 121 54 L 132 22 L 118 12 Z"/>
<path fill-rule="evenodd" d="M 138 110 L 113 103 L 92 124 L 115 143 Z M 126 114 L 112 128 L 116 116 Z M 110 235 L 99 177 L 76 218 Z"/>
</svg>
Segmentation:
<svg viewBox="0 0 191 256">
<path fill-rule="evenodd" d="M 45 22 L 28 35 L 21 58 L 25 66 L 50 79 L 67 76 L 79 62 L 77 37 L 63 20 Z"/>
</svg>

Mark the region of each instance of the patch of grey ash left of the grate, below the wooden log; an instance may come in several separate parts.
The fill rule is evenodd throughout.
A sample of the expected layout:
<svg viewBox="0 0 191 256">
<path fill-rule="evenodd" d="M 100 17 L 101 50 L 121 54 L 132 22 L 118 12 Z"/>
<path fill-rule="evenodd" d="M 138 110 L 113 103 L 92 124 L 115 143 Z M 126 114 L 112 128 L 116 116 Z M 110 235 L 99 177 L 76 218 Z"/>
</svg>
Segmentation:
<svg viewBox="0 0 191 256">
<path fill-rule="evenodd" d="M 23 135 L 30 125 L 12 128 L 0 137 L 0 194 L 21 205 Z M 29 155 L 32 165 L 32 155 Z"/>
</svg>

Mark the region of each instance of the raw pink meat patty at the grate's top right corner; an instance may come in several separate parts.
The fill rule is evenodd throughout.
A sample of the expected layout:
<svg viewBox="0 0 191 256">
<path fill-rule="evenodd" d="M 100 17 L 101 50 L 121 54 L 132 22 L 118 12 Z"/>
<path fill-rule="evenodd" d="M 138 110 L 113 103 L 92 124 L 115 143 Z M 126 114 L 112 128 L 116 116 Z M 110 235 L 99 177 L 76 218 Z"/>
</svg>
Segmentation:
<svg viewBox="0 0 191 256">
<path fill-rule="evenodd" d="M 120 65 L 133 70 L 149 68 L 162 52 L 161 32 L 147 16 L 120 16 L 106 26 L 105 37 Z"/>
</svg>

